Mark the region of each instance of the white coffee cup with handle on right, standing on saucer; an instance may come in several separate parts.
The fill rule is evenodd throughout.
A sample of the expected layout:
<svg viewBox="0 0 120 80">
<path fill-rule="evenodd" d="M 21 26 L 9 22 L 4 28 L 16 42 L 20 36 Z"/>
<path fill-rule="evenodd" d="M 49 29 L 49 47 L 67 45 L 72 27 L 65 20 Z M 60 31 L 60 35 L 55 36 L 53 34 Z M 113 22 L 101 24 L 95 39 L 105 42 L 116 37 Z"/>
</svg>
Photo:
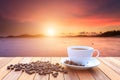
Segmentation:
<svg viewBox="0 0 120 80">
<path fill-rule="evenodd" d="M 86 65 L 92 58 L 94 51 L 97 52 L 96 57 L 98 57 L 99 51 L 89 46 L 69 46 L 67 48 L 69 59 L 80 65 Z"/>
</svg>

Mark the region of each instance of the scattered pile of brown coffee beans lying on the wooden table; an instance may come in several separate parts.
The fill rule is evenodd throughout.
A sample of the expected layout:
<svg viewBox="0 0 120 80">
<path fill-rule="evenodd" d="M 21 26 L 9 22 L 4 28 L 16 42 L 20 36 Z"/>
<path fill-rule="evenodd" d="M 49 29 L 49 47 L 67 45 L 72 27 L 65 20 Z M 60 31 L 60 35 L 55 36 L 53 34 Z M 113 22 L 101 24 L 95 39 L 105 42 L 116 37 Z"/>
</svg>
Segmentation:
<svg viewBox="0 0 120 80">
<path fill-rule="evenodd" d="M 59 72 L 68 73 L 59 63 L 51 64 L 49 61 L 36 61 L 29 64 L 11 64 L 7 66 L 7 70 L 22 71 L 30 75 L 34 73 L 38 73 L 39 75 L 52 74 L 53 77 L 57 77 Z"/>
</svg>

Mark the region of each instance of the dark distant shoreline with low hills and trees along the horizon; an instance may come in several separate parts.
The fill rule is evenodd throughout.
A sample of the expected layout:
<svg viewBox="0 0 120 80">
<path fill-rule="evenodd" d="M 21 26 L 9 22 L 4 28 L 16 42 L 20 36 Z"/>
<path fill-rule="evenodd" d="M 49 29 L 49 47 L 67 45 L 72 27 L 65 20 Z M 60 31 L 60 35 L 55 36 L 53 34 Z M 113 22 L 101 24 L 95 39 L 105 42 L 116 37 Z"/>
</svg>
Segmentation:
<svg viewBox="0 0 120 80">
<path fill-rule="evenodd" d="M 120 31 L 107 31 L 104 33 L 96 34 L 96 35 L 86 35 L 86 34 L 78 34 L 78 35 L 66 35 L 66 36 L 45 36 L 43 34 L 36 34 L 36 35 L 30 35 L 30 34 L 22 34 L 18 36 L 14 35 L 8 35 L 8 36 L 0 36 L 0 38 L 41 38 L 41 37 L 120 37 Z"/>
</svg>

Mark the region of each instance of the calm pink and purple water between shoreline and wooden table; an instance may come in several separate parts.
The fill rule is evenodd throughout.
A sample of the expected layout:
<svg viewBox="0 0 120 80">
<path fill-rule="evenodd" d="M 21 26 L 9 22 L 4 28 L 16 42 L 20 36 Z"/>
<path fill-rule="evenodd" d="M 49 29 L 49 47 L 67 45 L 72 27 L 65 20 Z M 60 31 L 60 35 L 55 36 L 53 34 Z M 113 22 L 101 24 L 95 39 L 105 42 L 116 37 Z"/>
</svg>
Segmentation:
<svg viewBox="0 0 120 80">
<path fill-rule="evenodd" d="M 100 51 L 100 56 L 120 57 L 120 38 L 0 38 L 0 56 L 67 56 L 67 47 L 87 45 Z"/>
</svg>

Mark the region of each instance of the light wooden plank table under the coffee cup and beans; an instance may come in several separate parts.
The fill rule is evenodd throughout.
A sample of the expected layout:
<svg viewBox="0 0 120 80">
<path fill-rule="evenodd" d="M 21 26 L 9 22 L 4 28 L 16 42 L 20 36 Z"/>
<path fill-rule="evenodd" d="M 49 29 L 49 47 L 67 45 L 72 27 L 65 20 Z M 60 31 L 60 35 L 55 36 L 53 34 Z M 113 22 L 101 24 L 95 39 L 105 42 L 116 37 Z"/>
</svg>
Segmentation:
<svg viewBox="0 0 120 80">
<path fill-rule="evenodd" d="M 52 75 L 26 74 L 7 70 L 10 64 L 29 63 L 31 61 L 50 61 L 60 63 L 64 57 L 0 57 L 0 80 L 120 80 L 120 57 L 99 57 L 100 65 L 89 70 L 68 70 L 68 74 L 60 73 L 57 78 Z"/>
</svg>

